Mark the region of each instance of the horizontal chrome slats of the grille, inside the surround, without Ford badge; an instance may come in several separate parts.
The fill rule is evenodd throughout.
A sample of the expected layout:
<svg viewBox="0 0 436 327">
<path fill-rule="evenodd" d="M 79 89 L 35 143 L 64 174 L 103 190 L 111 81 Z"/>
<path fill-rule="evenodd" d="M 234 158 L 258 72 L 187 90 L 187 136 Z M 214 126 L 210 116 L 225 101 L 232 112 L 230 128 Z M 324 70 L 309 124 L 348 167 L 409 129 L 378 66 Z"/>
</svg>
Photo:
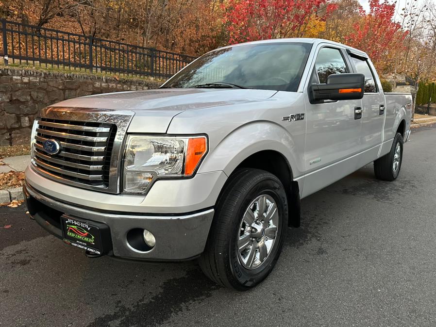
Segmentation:
<svg viewBox="0 0 436 327">
<path fill-rule="evenodd" d="M 33 163 L 52 177 L 107 188 L 116 134 L 117 126 L 111 123 L 38 118 Z M 61 145 L 58 154 L 44 150 L 49 139 Z"/>
</svg>

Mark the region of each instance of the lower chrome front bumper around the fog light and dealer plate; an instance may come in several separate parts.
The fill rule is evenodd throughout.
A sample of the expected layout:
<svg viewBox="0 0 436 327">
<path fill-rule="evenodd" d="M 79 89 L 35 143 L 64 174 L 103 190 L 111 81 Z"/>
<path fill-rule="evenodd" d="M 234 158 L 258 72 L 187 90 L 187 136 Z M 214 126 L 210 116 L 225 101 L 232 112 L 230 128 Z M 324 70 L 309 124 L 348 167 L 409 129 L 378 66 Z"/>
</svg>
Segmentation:
<svg viewBox="0 0 436 327">
<path fill-rule="evenodd" d="M 214 215 L 213 209 L 178 215 L 113 213 L 79 207 L 52 198 L 25 184 L 24 195 L 29 213 L 41 227 L 62 239 L 60 216 L 70 216 L 104 223 L 111 231 L 111 256 L 134 260 L 180 261 L 198 257 L 204 250 Z M 128 240 L 131 229 L 148 229 L 156 245 L 150 251 L 138 251 Z"/>
</svg>

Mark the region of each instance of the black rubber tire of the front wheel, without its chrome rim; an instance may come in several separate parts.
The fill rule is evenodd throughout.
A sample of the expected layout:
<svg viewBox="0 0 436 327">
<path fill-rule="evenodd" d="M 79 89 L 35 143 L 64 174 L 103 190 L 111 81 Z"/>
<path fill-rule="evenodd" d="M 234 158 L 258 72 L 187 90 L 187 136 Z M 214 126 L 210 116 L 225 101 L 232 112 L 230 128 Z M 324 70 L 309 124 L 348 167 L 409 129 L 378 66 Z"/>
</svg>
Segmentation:
<svg viewBox="0 0 436 327">
<path fill-rule="evenodd" d="M 238 241 L 241 236 L 238 235 L 247 233 L 243 231 L 245 229 L 241 229 L 242 224 L 244 224 L 242 217 L 246 210 L 249 210 L 248 208 L 252 202 L 259 197 L 274 201 L 277 206 L 277 215 L 274 215 L 274 217 L 278 221 L 278 225 L 276 225 L 275 238 L 268 239 L 266 229 L 262 228 L 262 237 L 256 238 L 256 240 L 261 242 L 262 238 L 264 238 L 268 242 L 272 239 L 274 241 L 268 255 L 262 258 L 262 263 L 256 257 L 254 261 L 259 266 L 247 269 L 241 263 L 241 254 L 238 249 Z M 268 204 L 264 206 L 266 208 L 264 213 L 267 214 L 267 211 L 269 212 L 270 208 L 273 208 L 271 206 L 272 202 L 264 201 L 263 203 Z M 259 205 L 259 203 L 254 202 L 253 208 L 256 208 L 256 205 Z M 254 216 L 257 214 L 257 218 L 253 219 L 258 222 L 259 207 L 256 210 L 252 211 Z M 271 272 L 280 255 L 287 230 L 287 217 L 288 207 L 285 189 L 276 176 L 259 169 L 241 168 L 236 170 L 230 176 L 218 198 L 205 250 L 199 259 L 201 270 L 208 278 L 219 285 L 238 291 L 246 291 L 259 284 Z M 250 229 L 248 225 L 246 227 Z M 251 239 L 254 240 L 254 238 Z M 252 244 L 259 245 L 261 243 L 255 242 Z M 252 246 L 249 245 L 247 251 L 251 251 Z M 260 258 L 260 248 L 255 251 L 256 254 L 259 253 Z"/>
</svg>

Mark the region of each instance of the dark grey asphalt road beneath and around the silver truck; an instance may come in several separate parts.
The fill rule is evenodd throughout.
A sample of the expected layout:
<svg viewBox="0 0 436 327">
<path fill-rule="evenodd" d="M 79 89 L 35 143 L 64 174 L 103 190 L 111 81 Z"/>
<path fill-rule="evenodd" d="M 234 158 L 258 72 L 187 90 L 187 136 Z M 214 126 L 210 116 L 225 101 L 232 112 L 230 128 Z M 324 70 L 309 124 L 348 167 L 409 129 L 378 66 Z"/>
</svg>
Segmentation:
<svg viewBox="0 0 436 327">
<path fill-rule="evenodd" d="M 0 208 L 0 326 L 436 326 L 435 145 L 436 125 L 414 129 L 398 180 L 371 164 L 303 199 L 302 227 L 245 293 L 195 262 L 87 259 L 24 206 Z"/>
</svg>

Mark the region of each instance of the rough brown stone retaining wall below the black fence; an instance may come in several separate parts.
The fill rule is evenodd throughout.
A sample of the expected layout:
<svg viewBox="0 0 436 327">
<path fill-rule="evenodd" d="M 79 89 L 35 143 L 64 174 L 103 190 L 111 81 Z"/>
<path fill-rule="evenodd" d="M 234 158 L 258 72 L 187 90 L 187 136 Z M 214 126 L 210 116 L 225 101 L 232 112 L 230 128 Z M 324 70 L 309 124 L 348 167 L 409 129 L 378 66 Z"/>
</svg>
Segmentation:
<svg viewBox="0 0 436 327">
<path fill-rule="evenodd" d="M 69 98 L 146 90 L 161 82 L 35 69 L 0 69 L 0 146 L 29 144 L 38 111 Z"/>
</svg>

